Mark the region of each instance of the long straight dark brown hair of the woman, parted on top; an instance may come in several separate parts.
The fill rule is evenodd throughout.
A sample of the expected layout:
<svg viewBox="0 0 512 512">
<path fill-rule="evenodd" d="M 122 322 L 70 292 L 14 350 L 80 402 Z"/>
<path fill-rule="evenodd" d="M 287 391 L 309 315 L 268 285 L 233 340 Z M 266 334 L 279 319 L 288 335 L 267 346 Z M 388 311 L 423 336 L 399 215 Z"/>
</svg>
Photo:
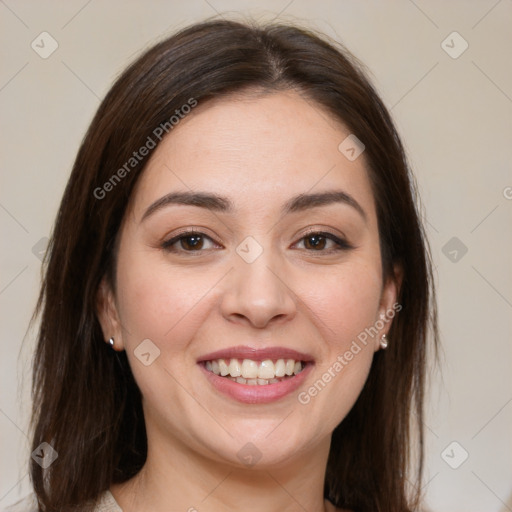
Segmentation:
<svg viewBox="0 0 512 512">
<path fill-rule="evenodd" d="M 341 120 L 366 146 L 382 249 L 383 277 L 403 272 L 389 348 L 333 432 L 325 497 L 357 511 L 408 511 L 411 425 L 423 462 L 423 395 L 428 333 L 437 343 L 428 246 L 408 164 L 388 111 L 360 64 L 335 42 L 287 25 L 208 21 L 156 44 L 117 79 L 78 151 L 50 240 L 36 313 L 33 449 L 46 441 L 58 459 L 31 461 L 39 510 L 92 503 L 134 476 L 146 458 L 140 391 L 124 352 L 105 345 L 96 296 L 115 284 L 115 240 L 149 156 L 123 173 L 106 197 L 95 193 L 154 138 L 156 127 L 192 98 L 199 104 L 247 88 L 295 89 Z M 126 168 L 125 168 L 126 170 Z M 112 182 L 111 182 L 112 183 Z M 411 418 L 413 421 L 411 421 Z M 129 428 L 127 428 L 127 426 Z"/>
</svg>

